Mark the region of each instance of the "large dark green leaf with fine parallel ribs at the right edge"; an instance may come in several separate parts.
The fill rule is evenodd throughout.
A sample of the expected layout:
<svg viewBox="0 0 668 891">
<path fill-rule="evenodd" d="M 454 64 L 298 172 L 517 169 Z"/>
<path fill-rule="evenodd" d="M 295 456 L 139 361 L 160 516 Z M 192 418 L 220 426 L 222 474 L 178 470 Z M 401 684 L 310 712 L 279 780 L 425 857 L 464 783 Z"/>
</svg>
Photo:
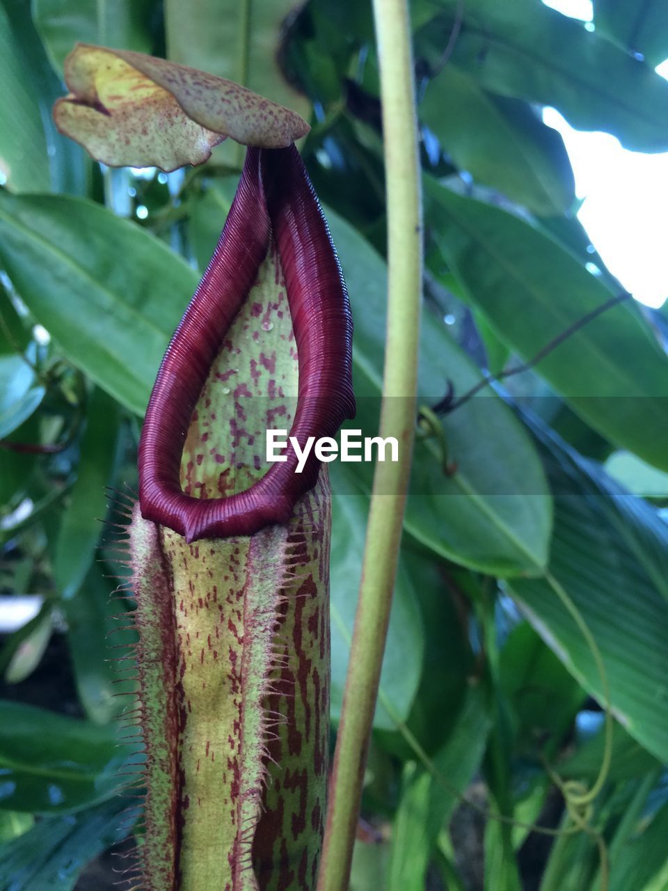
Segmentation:
<svg viewBox="0 0 668 891">
<path fill-rule="evenodd" d="M 618 504 L 597 485 L 588 462 L 537 424 L 534 430 L 555 498 L 550 565 L 544 579 L 512 579 L 509 590 L 600 702 L 599 670 L 564 594 L 572 601 L 599 647 L 615 717 L 648 751 L 668 760 L 668 602 L 659 586 L 661 563 L 639 546 L 641 519 L 620 522 Z M 634 499 L 626 497 L 628 506 Z"/>
</svg>

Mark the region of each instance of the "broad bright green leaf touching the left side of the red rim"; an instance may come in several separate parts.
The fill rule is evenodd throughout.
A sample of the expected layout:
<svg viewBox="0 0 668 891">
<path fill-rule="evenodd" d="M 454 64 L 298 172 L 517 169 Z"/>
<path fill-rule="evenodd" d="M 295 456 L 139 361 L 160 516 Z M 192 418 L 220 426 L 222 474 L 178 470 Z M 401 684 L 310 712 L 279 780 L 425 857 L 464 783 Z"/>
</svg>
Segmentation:
<svg viewBox="0 0 668 891">
<path fill-rule="evenodd" d="M 65 356 L 138 414 L 197 275 L 91 201 L 0 193 L 0 260 Z"/>
</svg>

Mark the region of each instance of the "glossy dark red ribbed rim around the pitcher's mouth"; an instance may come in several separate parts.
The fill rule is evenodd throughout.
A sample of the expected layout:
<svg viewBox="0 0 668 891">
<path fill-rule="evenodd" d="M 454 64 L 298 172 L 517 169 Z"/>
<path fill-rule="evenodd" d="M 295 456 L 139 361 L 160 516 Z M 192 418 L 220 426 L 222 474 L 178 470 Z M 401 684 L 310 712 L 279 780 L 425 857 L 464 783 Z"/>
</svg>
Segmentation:
<svg viewBox="0 0 668 891">
<path fill-rule="evenodd" d="M 297 344 L 297 410 L 289 436 L 304 448 L 307 437 L 333 436 L 342 421 L 354 417 L 350 305 L 313 186 L 294 145 L 248 149 L 223 234 L 160 365 L 139 444 L 143 517 L 189 542 L 254 535 L 287 522 L 297 499 L 318 478 L 313 451 L 302 473 L 295 472 L 292 446 L 287 462 L 272 464 L 264 477 L 228 497 L 185 495 L 179 478 L 200 391 L 272 239 Z"/>
</svg>

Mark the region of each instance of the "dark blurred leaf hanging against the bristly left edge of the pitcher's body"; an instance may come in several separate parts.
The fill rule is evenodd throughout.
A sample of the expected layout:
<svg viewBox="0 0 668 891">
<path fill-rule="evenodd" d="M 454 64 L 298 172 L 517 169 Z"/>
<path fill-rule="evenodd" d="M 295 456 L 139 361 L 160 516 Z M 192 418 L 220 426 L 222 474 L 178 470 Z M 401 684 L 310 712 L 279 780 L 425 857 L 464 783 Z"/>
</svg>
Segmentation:
<svg viewBox="0 0 668 891">
<path fill-rule="evenodd" d="M 130 663 L 117 660 L 127 656 L 121 649 L 123 644 L 136 639 L 132 631 L 119 631 L 131 622 L 121 620 L 123 601 L 111 598 L 112 586 L 113 581 L 104 576 L 95 562 L 77 595 L 62 603 L 79 701 L 86 715 L 97 724 L 109 723 L 127 707 L 128 700 L 120 695 L 125 685 L 118 683 L 118 673 Z M 111 631 L 113 638 L 109 637 Z M 132 689 L 134 684 L 127 683 L 126 690 Z"/>
</svg>

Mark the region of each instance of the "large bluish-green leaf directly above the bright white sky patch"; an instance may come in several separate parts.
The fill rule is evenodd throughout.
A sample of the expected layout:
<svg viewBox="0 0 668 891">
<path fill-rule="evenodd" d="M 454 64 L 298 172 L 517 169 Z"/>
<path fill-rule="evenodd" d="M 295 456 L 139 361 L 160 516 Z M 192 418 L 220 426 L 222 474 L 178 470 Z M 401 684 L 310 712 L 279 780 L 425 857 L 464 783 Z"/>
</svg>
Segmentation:
<svg viewBox="0 0 668 891">
<path fill-rule="evenodd" d="M 668 149 L 668 84 L 646 62 L 537 0 L 440 6 L 416 38 L 436 67 L 461 11 L 449 64 L 493 93 L 555 106 L 578 129 L 606 130 L 627 149 Z"/>
</svg>

